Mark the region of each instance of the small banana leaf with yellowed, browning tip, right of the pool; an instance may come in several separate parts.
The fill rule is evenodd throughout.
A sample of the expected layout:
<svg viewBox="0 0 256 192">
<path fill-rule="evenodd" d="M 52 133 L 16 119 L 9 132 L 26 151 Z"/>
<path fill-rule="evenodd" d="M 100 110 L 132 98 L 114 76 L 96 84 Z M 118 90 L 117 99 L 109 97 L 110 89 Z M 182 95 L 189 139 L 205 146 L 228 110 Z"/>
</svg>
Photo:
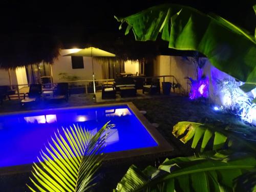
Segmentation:
<svg viewBox="0 0 256 192">
<path fill-rule="evenodd" d="M 193 139 L 191 144 L 192 148 L 196 148 L 199 141 L 202 139 L 201 152 L 203 152 L 206 145 L 210 143 L 210 139 L 214 139 L 213 150 L 220 150 L 224 144 L 226 144 L 228 147 L 236 148 L 237 150 L 241 150 L 242 148 L 249 152 L 256 152 L 255 142 L 246 140 L 227 130 L 225 127 L 228 127 L 228 125 L 181 121 L 174 125 L 173 135 L 179 138 L 183 143 Z"/>
</svg>

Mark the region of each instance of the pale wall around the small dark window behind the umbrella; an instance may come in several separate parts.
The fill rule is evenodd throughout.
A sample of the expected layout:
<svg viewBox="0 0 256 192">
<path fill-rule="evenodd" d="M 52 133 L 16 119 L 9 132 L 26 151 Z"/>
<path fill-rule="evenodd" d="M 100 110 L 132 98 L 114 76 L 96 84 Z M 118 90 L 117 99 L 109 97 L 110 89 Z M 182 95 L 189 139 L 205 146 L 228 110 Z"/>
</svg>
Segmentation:
<svg viewBox="0 0 256 192">
<path fill-rule="evenodd" d="M 62 50 L 61 55 L 71 53 L 72 50 Z M 83 57 L 83 69 L 72 69 L 71 56 L 60 56 L 52 65 L 53 82 L 63 81 L 59 73 L 67 73 L 68 75 L 76 75 L 79 80 L 92 80 L 92 58 Z M 94 74 L 96 79 L 102 79 L 101 65 L 96 59 L 93 59 Z"/>
</svg>

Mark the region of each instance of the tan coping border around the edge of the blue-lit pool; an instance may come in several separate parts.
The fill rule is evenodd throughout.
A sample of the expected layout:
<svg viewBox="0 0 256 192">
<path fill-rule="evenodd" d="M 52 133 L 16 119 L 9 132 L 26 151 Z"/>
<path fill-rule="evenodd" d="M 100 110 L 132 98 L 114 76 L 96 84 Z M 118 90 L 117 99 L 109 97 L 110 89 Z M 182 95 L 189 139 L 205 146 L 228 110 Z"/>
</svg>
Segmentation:
<svg viewBox="0 0 256 192">
<path fill-rule="evenodd" d="M 61 111 L 68 109 L 92 109 L 97 107 L 104 106 L 123 106 L 127 105 L 129 109 L 134 113 L 140 123 L 145 127 L 147 132 L 151 135 L 151 137 L 157 142 L 157 146 L 153 147 L 144 147 L 144 148 L 136 148 L 133 150 L 126 150 L 120 152 L 112 152 L 106 153 L 104 160 L 113 160 L 113 159 L 124 159 L 124 158 L 132 158 L 143 155 L 153 155 L 164 152 L 172 152 L 174 148 L 164 139 L 164 137 L 156 130 L 156 128 L 144 117 L 143 114 L 136 108 L 136 106 L 132 102 L 119 102 L 119 103 L 107 103 L 107 104 L 96 104 L 96 105 L 83 105 L 83 106 L 75 106 L 69 108 L 53 108 L 47 110 L 30 110 L 30 111 L 19 111 L 19 112 L 8 112 L 0 114 L 0 116 L 4 115 L 15 115 L 15 114 L 23 114 L 23 113 L 36 113 L 36 112 L 52 112 L 52 111 Z M 32 164 L 24 164 L 24 165 L 15 165 L 8 167 L 0 167 L 0 176 L 3 175 L 11 175 L 18 173 L 30 172 Z"/>
</svg>

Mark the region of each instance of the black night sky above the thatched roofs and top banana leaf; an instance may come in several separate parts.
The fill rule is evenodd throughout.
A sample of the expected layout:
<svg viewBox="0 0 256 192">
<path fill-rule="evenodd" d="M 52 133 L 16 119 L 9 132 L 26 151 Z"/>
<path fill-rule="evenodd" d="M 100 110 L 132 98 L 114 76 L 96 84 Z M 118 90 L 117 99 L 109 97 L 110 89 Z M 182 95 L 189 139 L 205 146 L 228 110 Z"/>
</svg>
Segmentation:
<svg viewBox="0 0 256 192">
<path fill-rule="evenodd" d="M 231 2 L 231 3 L 230 3 Z M 119 32 L 114 15 L 128 16 L 162 3 L 194 7 L 204 13 L 214 12 L 252 34 L 256 16 L 252 5 L 256 0 L 180 0 L 180 1 L 10 1 L 0 2 L 0 34 L 49 33 L 62 40 L 86 39 L 98 32 Z M 124 33 L 122 31 L 122 33 Z"/>
</svg>

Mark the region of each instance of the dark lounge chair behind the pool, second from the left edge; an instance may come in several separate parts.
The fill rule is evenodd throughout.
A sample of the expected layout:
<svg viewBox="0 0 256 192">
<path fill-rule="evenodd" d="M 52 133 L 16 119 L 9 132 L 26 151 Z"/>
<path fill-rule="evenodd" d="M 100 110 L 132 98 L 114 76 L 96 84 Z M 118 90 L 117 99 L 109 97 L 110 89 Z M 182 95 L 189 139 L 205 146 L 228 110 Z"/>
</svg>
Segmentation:
<svg viewBox="0 0 256 192">
<path fill-rule="evenodd" d="M 40 99 L 42 93 L 41 84 L 31 84 L 29 86 L 29 92 L 24 93 L 24 99 L 20 101 L 20 104 L 23 106 L 27 103 L 32 103 Z M 26 96 L 27 95 L 27 96 Z"/>
</svg>

